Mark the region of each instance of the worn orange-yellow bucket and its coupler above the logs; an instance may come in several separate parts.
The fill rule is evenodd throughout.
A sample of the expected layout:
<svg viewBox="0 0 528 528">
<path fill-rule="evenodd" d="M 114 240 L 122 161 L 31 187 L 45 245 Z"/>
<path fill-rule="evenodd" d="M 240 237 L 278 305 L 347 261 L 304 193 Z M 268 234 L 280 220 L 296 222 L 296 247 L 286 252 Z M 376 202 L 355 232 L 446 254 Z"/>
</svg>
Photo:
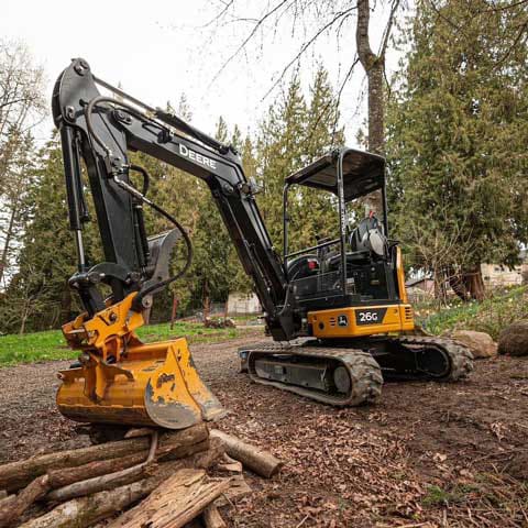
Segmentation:
<svg viewBox="0 0 528 528">
<path fill-rule="evenodd" d="M 80 350 L 79 367 L 61 371 L 58 410 L 76 421 L 184 429 L 223 414 L 200 380 L 185 338 L 143 343 L 144 323 L 131 310 L 136 294 L 63 327 Z"/>
</svg>

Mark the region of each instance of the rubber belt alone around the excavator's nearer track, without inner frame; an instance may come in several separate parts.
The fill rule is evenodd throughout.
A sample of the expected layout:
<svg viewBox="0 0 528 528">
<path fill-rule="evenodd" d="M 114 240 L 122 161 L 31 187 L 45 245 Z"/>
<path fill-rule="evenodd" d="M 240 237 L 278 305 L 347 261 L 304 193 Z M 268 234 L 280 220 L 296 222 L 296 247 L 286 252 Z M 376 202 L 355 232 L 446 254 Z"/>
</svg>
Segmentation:
<svg viewBox="0 0 528 528">
<path fill-rule="evenodd" d="M 354 407 L 362 404 L 373 404 L 382 395 L 383 376 L 380 365 L 374 358 L 355 349 L 329 349 L 323 346 L 302 346 L 301 343 L 256 343 L 243 348 L 249 352 L 249 375 L 252 381 L 262 385 L 270 385 L 283 391 L 298 394 L 323 404 L 339 407 Z M 270 358 L 273 354 L 292 354 L 296 358 L 332 360 L 341 363 L 350 376 L 351 388 L 345 395 L 327 394 L 310 388 L 288 385 L 272 380 L 264 380 L 256 375 L 254 361 L 258 358 Z"/>
</svg>

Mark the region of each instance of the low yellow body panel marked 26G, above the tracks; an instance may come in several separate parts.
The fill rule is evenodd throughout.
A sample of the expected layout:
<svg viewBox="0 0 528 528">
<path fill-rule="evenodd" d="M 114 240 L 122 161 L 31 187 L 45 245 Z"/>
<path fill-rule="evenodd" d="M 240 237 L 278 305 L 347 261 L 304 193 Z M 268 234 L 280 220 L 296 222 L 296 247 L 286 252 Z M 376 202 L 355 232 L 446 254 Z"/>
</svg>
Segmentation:
<svg viewBox="0 0 528 528">
<path fill-rule="evenodd" d="M 376 321 L 374 315 L 383 311 L 383 319 Z M 311 324 L 314 336 L 321 339 L 355 338 L 376 333 L 402 332 L 415 328 L 413 307 L 408 304 L 355 306 L 309 311 L 308 323 Z"/>
</svg>

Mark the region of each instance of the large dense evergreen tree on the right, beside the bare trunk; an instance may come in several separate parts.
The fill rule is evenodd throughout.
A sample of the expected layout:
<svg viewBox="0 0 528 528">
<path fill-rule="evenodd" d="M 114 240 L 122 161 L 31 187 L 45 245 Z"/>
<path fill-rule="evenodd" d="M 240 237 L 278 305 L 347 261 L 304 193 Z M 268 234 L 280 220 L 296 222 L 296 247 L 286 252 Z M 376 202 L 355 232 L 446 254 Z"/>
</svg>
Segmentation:
<svg viewBox="0 0 528 528">
<path fill-rule="evenodd" d="M 494 7 L 419 1 L 388 105 L 393 227 L 433 273 L 514 265 L 528 240 L 528 6 Z"/>
</svg>

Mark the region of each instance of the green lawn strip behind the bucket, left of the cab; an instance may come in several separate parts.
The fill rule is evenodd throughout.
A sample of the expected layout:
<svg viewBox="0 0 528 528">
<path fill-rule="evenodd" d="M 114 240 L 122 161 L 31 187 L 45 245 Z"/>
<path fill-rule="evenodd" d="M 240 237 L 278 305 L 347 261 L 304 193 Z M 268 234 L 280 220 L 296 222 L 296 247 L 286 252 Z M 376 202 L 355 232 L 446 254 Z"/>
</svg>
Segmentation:
<svg viewBox="0 0 528 528">
<path fill-rule="evenodd" d="M 229 341 L 230 339 L 254 332 L 239 328 L 205 328 L 197 322 L 176 322 L 170 330 L 168 323 L 142 327 L 138 333 L 145 342 L 187 338 L 190 344 Z M 28 333 L 24 336 L 0 336 L 0 367 L 37 361 L 75 360 L 78 352 L 66 345 L 61 330 Z"/>
</svg>

